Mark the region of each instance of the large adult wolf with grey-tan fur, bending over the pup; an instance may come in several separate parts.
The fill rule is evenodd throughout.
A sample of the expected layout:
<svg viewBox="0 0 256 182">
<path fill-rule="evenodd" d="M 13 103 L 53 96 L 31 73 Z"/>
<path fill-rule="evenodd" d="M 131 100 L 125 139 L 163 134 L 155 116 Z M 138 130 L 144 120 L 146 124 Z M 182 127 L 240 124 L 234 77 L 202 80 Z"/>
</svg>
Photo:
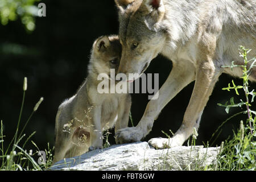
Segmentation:
<svg viewBox="0 0 256 182">
<path fill-rule="evenodd" d="M 158 100 L 148 102 L 136 127 L 121 129 L 117 143 L 139 141 L 152 129 L 163 107 L 195 80 L 183 123 L 174 137 L 153 138 L 156 148 L 180 146 L 198 129 L 201 115 L 221 73 L 242 76 L 239 46 L 256 55 L 255 0 L 115 0 L 119 10 L 122 44 L 118 73 L 140 75 L 159 53 L 172 60 L 173 68 L 159 90 Z M 250 73 L 256 81 L 256 67 Z M 131 81 L 131 80 L 129 80 Z"/>
</svg>

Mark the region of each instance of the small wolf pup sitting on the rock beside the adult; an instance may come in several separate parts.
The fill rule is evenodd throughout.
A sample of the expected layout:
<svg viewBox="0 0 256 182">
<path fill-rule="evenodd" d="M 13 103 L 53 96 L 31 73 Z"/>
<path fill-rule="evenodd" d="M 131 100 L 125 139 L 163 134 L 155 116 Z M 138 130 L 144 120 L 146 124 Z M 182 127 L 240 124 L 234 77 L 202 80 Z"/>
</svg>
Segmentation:
<svg viewBox="0 0 256 182">
<path fill-rule="evenodd" d="M 114 125 L 115 130 L 127 127 L 130 95 L 97 91 L 98 75 L 110 75 L 110 69 L 115 69 L 116 73 L 121 52 L 118 36 L 102 36 L 94 42 L 86 81 L 57 111 L 53 162 L 102 148 L 104 130 Z"/>
</svg>

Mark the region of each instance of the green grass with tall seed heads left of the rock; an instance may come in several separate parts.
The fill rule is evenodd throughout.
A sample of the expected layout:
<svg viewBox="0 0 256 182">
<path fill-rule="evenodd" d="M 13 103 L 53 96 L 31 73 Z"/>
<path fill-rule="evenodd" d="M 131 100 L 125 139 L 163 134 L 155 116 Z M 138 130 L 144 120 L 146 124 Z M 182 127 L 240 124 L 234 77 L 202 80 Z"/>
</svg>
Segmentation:
<svg viewBox="0 0 256 182">
<path fill-rule="evenodd" d="M 39 105 L 43 101 L 43 97 L 40 98 L 40 100 L 36 103 L 34 106 L 34 109 L 32 110 L 32 113 L 28 117 L 27 121 L 24 123 L 23 127 L 21 127 L 21 121 L 22 121 L 22 113 L 23 113 L 23 107 L 24 107 L 24 101 L 25 101 L 25 95 L 27 90 L 27 78 L 24 78 L 23 82 L 23 97 L 22 97 L 22 105 L 20 107 L 19 112 L 19 118 L 16 126 L 16 131 L 14 134 L 13 139 L 7 146 L 7 148 L 4 148 L 3 142 L 5 141 L 5 135 L 3 132 L 3 121 L 1 120 L 1 134 L 0 134 L 0 170 L 6 170 L 6 171 L 28 171 L 28 170 L 44 170 L 47 169 L 49 166 L 51 166 L 52 163 L 52 150 L 49 147 L 45 150 L 44 153 L 46 156 L 40 156 L 39 155 L 39 148 L 36 146 L 36 144 L 31 140 L 31 138 L 35 135 L 35 131 L 30 134 L 26 138 L 26 134 L 23 134 L 24 130 L 26 129 L 26 126 L 28 122 L 30 122 L 32 116 L 38 110 Z M 20 130 L 21 129 L 21 130 Z M 33 152 L 32 150 L 27 151 L 26 144 L 28 142 L 32 142 L 34 146 L 38 149 L 37 151 Z M 37 159 L 45 159 L 44 161 L 39 162 L 36 161 Z"/>
</svg>

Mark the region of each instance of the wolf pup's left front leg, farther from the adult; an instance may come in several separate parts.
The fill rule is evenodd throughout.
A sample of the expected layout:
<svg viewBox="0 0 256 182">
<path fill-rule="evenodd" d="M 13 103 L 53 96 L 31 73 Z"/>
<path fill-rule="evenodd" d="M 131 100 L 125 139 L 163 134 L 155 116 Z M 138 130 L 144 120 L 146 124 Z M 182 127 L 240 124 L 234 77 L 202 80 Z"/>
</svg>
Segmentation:
<svg viewBox="0 0 256 182">
<path fill-rule="evenodd" d="M 89 151 L 102 148 L 101 131 L 101 107 L 95 106 L 93 109 L 92 128 L 90 129 L 90 147 Z"/>
</svg>

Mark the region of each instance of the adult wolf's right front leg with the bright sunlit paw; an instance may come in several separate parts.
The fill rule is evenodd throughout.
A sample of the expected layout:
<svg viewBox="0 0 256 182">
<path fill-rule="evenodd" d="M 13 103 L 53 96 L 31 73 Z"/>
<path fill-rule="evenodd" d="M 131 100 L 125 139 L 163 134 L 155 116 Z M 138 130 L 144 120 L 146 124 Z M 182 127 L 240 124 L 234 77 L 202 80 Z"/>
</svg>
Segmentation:
<svg viewBox="0 0 256 182">
<path fill-rule="evenodd" d="M 213 61 L 201 63 L 197 68 L 195 86 L 180 129 L 170 139 L 153 138 L 148 143 L 155 148 L 181 146 L 192 135 L 193 128 L 198 129 L 204 107 L 221 73 L 222 68 L 214 65 Z"/>
</svg>

